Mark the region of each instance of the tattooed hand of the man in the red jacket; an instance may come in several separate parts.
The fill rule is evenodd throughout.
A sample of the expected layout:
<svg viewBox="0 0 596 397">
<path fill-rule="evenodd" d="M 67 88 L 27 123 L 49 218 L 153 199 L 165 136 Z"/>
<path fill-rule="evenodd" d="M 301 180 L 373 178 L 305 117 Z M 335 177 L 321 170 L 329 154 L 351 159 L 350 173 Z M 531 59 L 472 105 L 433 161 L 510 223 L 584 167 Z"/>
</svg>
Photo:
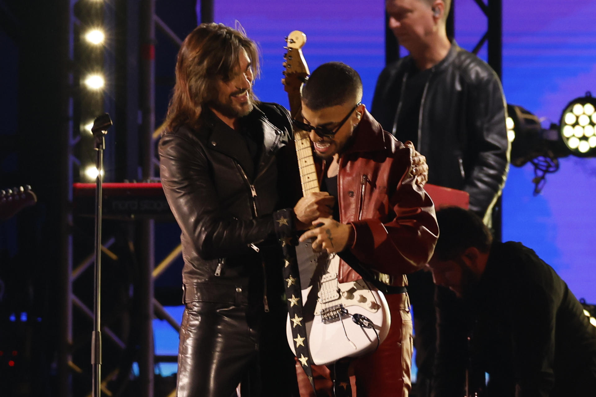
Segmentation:
<svg viewBox="0 0 596 397">
<path fill-rule="evenodd" d="M 330 218 L 318 218 L 312 222 L 313 225 L 319 225 L 315 229 L 300 236 L 300 242 L 308 239 L 315 239 L 312 242 L 312 249 L 315 252 L 323 251 L 329 253 L 343 251 L 347 243 L 353 240 L 354 228 L 352 225 L 339 223 Z"/>
</svg>

